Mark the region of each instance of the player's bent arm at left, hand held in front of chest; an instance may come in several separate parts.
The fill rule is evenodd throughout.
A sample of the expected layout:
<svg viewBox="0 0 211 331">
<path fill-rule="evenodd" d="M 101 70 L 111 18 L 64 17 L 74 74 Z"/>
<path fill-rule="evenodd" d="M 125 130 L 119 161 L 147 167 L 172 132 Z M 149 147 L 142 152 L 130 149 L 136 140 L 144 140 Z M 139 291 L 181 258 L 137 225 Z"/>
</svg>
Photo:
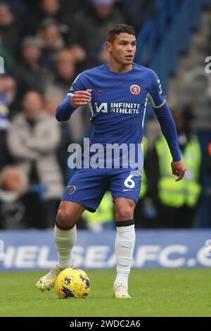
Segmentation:
<svg viewBox="0 0 211 331">
<path fill-rule="evenodd" d="M 77 107 L 88 104 L 91 101 L 91 89 L 86 89 L 80 75 L 76 77 L 70 91 L 63 102 L 56 108 L 58 122 L 69 120 Z"/>
</svg>

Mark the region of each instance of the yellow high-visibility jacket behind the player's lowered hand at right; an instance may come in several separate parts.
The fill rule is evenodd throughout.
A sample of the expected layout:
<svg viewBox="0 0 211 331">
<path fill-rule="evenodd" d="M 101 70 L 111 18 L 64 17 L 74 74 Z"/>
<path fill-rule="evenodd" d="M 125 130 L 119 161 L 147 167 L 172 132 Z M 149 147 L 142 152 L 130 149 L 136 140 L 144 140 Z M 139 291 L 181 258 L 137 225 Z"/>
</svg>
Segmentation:
<svg viewBox="0 0 211 331">
<path fill-rule="evenodd" d="M 155 149 L 158 155 L 160 179 L 158 181 L 158 196 L 165 206 L 179 208 L 187 204 L 189 207 L 196 206 L 201 187 L 198 182 L 200 175 L 201 151 L 196 136 L 186 144 L 181 153 L 181 160 L 186 166 L 184 178 L 175 182 L 172 175 L 172 156 L 163 135 L 155 142 Z"/>
</svg>

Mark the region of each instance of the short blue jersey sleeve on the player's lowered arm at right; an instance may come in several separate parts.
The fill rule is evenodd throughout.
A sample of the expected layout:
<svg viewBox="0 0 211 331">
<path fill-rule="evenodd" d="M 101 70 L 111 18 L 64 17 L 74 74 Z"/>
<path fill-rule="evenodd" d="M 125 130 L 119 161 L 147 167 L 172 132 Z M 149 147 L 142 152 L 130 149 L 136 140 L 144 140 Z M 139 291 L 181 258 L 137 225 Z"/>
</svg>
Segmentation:
<svg viewBox="0 0 211 331">
<path fill-rule="evenodd" d="M 148 102 L 154 109 L 159 109 L 165 104 L 166 96 L 162 92 L 162 87 L 158 76 L 152 71 L 151 85 L 147 94 Z"/>
</svg>

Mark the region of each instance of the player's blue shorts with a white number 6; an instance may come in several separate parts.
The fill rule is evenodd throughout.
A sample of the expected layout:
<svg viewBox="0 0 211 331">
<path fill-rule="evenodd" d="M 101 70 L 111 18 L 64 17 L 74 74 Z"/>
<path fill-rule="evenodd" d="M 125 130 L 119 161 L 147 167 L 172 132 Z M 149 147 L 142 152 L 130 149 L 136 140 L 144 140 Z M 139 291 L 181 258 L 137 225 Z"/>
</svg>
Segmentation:
<svg viewBox="0 0 211 331">
<path fill-rule="evenodd" d="M 141 174 L 131 168 L 77 169 L 61 198 L 87 207 L 94 213 L 103 195 L 110 190 L 113 200 L 116 198 L 139 200 Z"/>
</svg>

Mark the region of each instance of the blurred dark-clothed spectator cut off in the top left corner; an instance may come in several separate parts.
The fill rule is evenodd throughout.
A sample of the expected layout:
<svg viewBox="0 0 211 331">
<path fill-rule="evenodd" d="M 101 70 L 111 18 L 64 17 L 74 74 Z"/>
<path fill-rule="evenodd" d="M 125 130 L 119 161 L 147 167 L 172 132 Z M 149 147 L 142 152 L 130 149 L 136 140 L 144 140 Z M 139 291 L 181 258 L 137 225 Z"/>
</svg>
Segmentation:
<svg viewBox="0 0 211 331">
<path fill-rule="evenodd" d="M 18 56 L 21 30 L 20 23 L 16 20 L 6 1 L 0 1 L 0 32 L 2 42 L 14 57 Z"/>
</svg>

